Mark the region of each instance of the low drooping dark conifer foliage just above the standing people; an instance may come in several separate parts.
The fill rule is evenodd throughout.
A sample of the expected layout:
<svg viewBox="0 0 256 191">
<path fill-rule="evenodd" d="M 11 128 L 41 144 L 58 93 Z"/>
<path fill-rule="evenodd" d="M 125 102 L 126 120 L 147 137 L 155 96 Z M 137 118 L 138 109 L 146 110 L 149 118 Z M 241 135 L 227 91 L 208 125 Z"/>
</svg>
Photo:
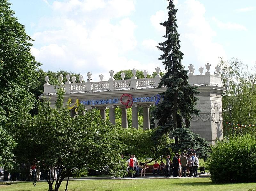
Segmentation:
<svg viewBox="0 0 256 191">
<path fill-rule="evenodd" d="M 196 155 L 199 158 L 204 158 L 204 160 L 206 160 L 210 151 L 210 146 L 199 134 L 193 133 L 187 128 L 178 128 L 172 131 L 172 136 L 179 138 L 179 143 L 177 145 L 173 143 L 171 144 L 172 150 L 187 152 L 188 149 L 195 149 Z"/>
</svg>

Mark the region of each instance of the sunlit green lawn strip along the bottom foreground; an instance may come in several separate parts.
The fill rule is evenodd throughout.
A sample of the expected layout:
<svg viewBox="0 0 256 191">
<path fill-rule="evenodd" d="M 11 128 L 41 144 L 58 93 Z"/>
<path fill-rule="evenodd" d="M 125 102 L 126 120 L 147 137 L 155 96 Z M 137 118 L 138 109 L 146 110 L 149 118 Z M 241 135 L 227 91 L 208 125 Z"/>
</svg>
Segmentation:
<svg viewBox="0 0 256 191">
<path fill-rule="evenodd" d="M 66 182 L 60 190 L 65 190 Z M 0 183 L 1 191 L 43 191 L 48 190 L 46 182 L 14 182 L 10 186 Z M 246 191 L 256 187 L 256 183 L 214 184 L 208 178 L 186 179 L 133 179 L 133 180 L 73 180 L 69 181 L 68 191 L 177 191 L 177 190 L 232 190 Z"/>
</svg>

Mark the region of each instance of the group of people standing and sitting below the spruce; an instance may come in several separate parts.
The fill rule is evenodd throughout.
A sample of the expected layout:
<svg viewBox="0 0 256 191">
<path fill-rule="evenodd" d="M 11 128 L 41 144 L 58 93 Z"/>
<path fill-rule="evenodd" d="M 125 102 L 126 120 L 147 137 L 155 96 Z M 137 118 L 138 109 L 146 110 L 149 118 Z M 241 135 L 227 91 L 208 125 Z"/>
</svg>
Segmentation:
<svg viewBox="0 0 256 191">
<path fill-rule="evenodd" d="M 123 158 L 123 156 L 122 156 Z M 156 173 L 159 176 L 166 176 L 169 178 L 173 175 L 173 177 L 186 177 L 186 173 L 188 170 L 188 177 L 197 177 L 197 168 L 199 166 L 199 159 L 196 157 L 196 153 L 178 153 L 170 160 L 170 155 L 166 156 L 166 163 L 163 161 L 160 164 L 155 161 L 153 165 L 153 176 Z M 127 171 L 130 172 L 131 178 L 135 178 L 136 176 L 144 176 L 146 175 L 146 170 L 149 168 L 147 163 L 142 164 L 138 163 L 135 155 L 130 155 L 127 164 Z"/>
</svg>

